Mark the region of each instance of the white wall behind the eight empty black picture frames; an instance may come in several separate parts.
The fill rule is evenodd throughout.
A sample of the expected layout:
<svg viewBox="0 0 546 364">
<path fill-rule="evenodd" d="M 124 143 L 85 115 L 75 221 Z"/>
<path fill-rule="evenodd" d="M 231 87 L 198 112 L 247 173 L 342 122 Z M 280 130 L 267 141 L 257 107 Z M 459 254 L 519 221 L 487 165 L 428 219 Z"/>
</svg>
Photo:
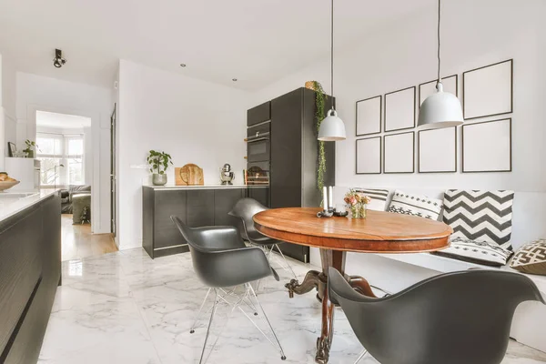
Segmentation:
<svg viewBox="0 0 546 364">
<path fill-rule="evenodd" d="M 345 189 L 341 187 L 351 186 L 399 187 L 430 196 L 438 196 L 450 187 L 513 189 L 516 191 L 513 244 L 519 246 L 531 238 L 546 236 L 543 223 L 546 219 L 546 25 L 542 19 L 546 2 L 526 0 L 524 3 L 511 0 L 442 3 L 443 76 L 459 74 L 461 87 L 462 72 L 514 59 L 513 172 L 355 174 L 355 102 L 407 86 L 419 86 L 436 76 L 436 15 L 431 7 L 417 17 L 378 29 L 336 53 L 335 96 L 348 134 L 347 140 L 336 146 L 336 184 L 340 187 L 337 198 Z M 321 81 L 329 92 L 328 60 L 260 90 L 254 104 L 313 79 Z M 458 167 L 460 169 L 460 156 Z M 314 257 L 317 262 L 317 255 Z M 353 261 L 349 259 L 349 263 Z"/>
</svg>

